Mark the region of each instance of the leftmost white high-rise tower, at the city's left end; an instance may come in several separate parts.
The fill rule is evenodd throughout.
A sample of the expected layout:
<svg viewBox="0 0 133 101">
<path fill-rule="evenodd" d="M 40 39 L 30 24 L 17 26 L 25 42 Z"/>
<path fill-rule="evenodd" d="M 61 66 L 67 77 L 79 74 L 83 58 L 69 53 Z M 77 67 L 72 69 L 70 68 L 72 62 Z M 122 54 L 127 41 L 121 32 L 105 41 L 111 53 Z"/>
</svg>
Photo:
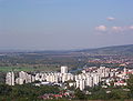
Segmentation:
<svg viewBox="0 0 133 101">
<path fill-rule="evenodd" d="M 14 85 L 14 73 L 8 72 L 6 75 L 6 84 Z"/>
</svg>

